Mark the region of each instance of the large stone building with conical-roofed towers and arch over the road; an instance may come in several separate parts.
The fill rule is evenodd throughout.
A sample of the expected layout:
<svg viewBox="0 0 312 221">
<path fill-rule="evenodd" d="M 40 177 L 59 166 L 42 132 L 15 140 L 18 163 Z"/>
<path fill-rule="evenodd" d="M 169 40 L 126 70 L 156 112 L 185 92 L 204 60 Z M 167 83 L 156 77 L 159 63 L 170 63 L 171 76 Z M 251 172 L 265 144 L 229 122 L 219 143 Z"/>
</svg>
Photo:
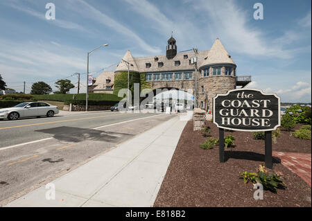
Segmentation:
<svg viewBox="0 0 312 221">
<path fill-rule="evenodd" d="M 153 90 L 192 89 L 193 96 L 198 98 L 198 107 L 202 109 L 211 109 L 212 98 L 216 94 L 225 94 L 230 89 L 245 87 L 251 82 L 251 76 L 236 76 L 236 64 L 220 39 L 217 38 L 207 51 L 177 53 L 176 40 L 171 36 L 166 46 L 166 55 L 133 58 L 130 51 L 127 51 L 114 72 L 103 72 L 98 76 L 93 87 L 94 92 L 112 92 L 114 74 L 128 71 L 128 63 L 123 60 L 130 63 L 130 71 L 144 73 Z M 108 78 L 111 80 L 110 86 L 105 85 Z M 110 91 L 107 91 L 108 88 Z"/>
</svg>

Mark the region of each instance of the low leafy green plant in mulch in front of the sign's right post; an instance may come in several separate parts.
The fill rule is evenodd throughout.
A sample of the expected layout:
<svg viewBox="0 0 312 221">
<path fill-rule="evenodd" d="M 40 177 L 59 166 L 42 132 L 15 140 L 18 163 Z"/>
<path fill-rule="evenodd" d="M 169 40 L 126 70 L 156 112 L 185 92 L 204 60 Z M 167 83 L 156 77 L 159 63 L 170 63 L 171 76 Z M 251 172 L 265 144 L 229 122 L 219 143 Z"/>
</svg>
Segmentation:
<svg viewBox="0 0 312 221">
<path fill-rule="evenodd" d="M 272 193 L 277 193 L 277 188 L 284 189 L 286 188 L 281 173 L 271 173 L 269 174 L 266 170 L 266 167 L 261 164 L 257 173 L 244 172 L 241 173 L 241 178 L 243 182 L 248 184 L 252 182 L 253 184 L 260 183 L 263 185 L 265 191 L 271 191 Z"/>
</svg>

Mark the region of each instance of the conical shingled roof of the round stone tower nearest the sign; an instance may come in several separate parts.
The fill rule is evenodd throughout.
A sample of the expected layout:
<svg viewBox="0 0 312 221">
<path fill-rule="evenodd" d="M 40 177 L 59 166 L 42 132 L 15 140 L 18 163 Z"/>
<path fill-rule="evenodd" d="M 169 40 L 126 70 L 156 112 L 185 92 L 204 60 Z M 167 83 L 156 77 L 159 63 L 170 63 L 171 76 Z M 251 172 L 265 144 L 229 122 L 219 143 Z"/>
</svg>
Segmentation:
<svg viewBox="0 0 312 221">
<path fill-rule="evenodd" d="M 216 39 L 214 44 L 211 46 L 207 58 L 202 62 L 201 66 L 211 64 L 235 64 L 232 58 L 227 53 L 227 50 L 221 43 L 220 39 Z"/>
</svg>

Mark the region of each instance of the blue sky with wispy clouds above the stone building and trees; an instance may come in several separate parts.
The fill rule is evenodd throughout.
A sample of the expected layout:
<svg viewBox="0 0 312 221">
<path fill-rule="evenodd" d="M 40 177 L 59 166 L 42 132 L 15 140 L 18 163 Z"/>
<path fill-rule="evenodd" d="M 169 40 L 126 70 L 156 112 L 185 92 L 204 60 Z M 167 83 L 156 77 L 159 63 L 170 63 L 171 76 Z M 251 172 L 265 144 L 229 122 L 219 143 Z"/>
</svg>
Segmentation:
<svg viewBox="0 0 312 221">
<path fill-rule="evenodd" d="M 46 20 L 46 3 L 55 20 Z M 253 18 L 263 4 L 263 20 Z M 237 64 L 252 75 L 250 88 L 275 92 L 282 101 L 311 102 L 311 1 L 2 0 L 0 73 L 8 87 L 26 92 L 31 83 L 53 83 L 90 71 L 101 73 L 135 57 L 165 53 L 171 31 L 177 50 L 207 50 L 219 37 Z M 81 76 L 85 91 L 85 75 Z M 77 77 L 69 78 L 73 83 Z M 53 87 L 54 88 L 54 87 Z"/>
</svg>

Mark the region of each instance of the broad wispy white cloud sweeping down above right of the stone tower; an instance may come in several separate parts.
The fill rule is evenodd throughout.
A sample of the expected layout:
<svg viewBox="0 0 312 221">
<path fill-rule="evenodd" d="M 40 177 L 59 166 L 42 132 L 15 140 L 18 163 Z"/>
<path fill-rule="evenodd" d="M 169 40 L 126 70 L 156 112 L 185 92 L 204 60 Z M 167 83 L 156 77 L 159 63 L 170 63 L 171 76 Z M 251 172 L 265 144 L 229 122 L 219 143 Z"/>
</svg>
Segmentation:
<svg viewBox="0 0 312 221">
<path fill-rule="evenodd" d="M 221 42 L 226 42 L 226 48 L 252 56 L 266 56 L 281 59 L 289 59 L 297 49 L 287 50 L 284 46 L 287 42 L 277 42 L 268 39 L 263 30 L 254 28 L 250 23 L 259 22 L 252 19 L 252 14 L 242 10 L 235 1 L 201 0 L 194 6 L 199 13 L 209 17 L 209 24 L 202 27 L 212 38 L 219 37 Z M 284 36 L 289 40 L 297 39 L 297 35 L 289 32 Z"/>
</svg>

